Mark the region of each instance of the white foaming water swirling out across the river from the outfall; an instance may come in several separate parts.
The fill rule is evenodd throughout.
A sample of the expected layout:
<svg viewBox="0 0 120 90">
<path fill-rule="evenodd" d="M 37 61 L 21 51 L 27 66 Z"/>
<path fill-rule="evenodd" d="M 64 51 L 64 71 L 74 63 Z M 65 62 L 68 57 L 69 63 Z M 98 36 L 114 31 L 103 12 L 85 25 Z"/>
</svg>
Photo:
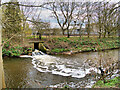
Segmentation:
<svg viewBox="0 0 120 90">
<path fill-rule="evenodd" d="M 73 60 L 62 60 L 46 54 L 33 56 L 32 64 L 40 72 L 50 72 L 51 74 L 73 78 L 83 78 L 92 72 L 100 73 L 97 68 L 89 67 L 82 69 L 82 66 L 78 66 L 79 63 L 76 61 L 74 63 Z"/>
</svg>

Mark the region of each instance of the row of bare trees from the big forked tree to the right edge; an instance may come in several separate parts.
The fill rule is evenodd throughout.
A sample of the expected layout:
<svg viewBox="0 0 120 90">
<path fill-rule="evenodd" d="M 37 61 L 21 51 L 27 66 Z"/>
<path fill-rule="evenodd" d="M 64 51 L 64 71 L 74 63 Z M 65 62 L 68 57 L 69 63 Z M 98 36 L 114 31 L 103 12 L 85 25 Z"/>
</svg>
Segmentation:
<svg viewBox="0 0 120 90">
<path fill-rule="evenodd" d="M 92 23 L 98 28 L 99 38 L 114 35 L 118 32 L 119 2 L 53 2 L 50 9 L 57 20 L 63 35 L 67 31 L 70 36 L 70 26 L 79 26 L 79 35 L 85 23 L 88 37 L 92 31 Z"/>
</svg>

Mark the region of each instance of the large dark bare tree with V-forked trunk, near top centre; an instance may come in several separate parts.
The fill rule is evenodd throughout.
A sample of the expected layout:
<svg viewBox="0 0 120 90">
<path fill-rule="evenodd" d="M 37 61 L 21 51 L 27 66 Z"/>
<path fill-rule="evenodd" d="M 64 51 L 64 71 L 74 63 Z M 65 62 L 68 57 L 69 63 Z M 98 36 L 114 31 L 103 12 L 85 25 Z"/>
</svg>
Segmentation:
<svg viewBox="0 0 120 90">
<path fill-rule="evenodd" d="M 70 37 L 69 27 L 72 23 L 74 10 L 76 8 L 75 2 L 53 2 L 50 5 L 57 23 L 62 29 L 62 33 L 67 30 L 67 37 Z"/>
</svg>

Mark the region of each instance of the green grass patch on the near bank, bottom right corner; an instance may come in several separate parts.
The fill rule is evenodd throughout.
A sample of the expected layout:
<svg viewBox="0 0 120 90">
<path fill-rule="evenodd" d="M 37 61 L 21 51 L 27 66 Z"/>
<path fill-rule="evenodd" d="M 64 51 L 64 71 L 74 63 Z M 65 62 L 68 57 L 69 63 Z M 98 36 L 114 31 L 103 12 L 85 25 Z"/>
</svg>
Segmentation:
<svg viewBox="0 0 120 90">
<path fill-rule="evenodd" d="M 93 88 L 120 88 L 120 77 L 106 80 L 106 83 L 99 80 L 95 85 L 93 85 Z"/>
</svg>

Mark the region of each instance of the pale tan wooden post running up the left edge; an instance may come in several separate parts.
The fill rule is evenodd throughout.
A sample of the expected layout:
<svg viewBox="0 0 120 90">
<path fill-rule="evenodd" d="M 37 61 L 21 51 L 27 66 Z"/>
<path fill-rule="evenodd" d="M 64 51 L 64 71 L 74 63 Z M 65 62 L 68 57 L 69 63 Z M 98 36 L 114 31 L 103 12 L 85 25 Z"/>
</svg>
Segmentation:
<svg viewBox="0 0 120 90">
<path fill-rule="evenodd" d="M 0 0 L 0 90 L 5 88 L 5 81 L 4 81 L 4 70 L 3 70 L 3 59 L 2 59 L 2 7 L 1 7 L 1 0 Z"/>
</svg>

